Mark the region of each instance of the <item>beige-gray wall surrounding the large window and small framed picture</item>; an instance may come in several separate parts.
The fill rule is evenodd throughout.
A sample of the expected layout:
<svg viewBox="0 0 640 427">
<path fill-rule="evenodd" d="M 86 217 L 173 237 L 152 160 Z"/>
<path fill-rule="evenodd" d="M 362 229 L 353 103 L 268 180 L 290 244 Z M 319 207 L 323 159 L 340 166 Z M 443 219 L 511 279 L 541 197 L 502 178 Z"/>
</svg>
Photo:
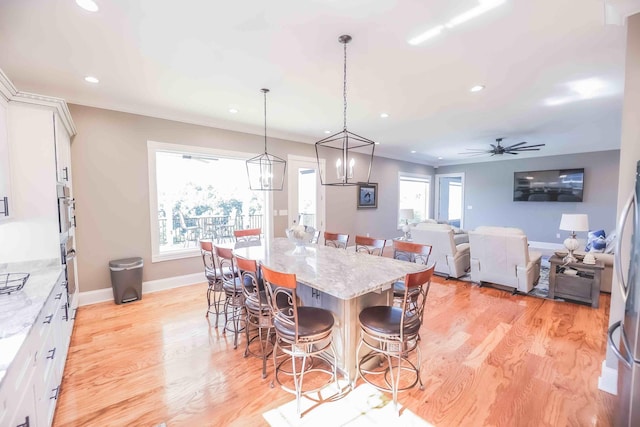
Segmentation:
<svg viewBox="0 0 640 427">
<path fill-rule="evenodd" d="M 263 137 L 79 105 L 69 108 L 78 130 L 71 160 L 80 291 L 110 287 L 108 262 L 123 257 L 144 259 L 144 281 L 202 271 L 199 256 L 151 262 L 147 141 L 260 153 Z M 312 144 L 271 138 L 269 152 L 282 158 L 315 157 Z M 399 171 L 430 174 L 433 168 L 376 158 L 371 180 L 379 183 L 378 209 L 357 210 L 355 187 L 327 187 L 326 228 L 397 236 Z M 285 180 L 284 191 L 273 193 L 273 209 L 288 208 L 287 194 Z M 274 218 L 276 236 L 284 236 L 287 226 L 287 216 Z"/>
</svg>

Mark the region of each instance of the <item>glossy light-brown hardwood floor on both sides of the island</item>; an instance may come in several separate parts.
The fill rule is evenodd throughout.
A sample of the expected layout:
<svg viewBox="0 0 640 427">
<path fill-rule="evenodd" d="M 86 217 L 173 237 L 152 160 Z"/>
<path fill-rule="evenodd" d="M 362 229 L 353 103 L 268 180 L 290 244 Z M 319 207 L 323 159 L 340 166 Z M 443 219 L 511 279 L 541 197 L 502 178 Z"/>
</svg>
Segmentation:
<svg viewBox="0 0 640 427">
<path fill-rule="evenodd" d="M 55 426 L 266 425 L 293 400 L 205 318 L 206 284 L 81 307 Z M 437 427 L 607 426 L 600 308 L 434 279 L 421 331 L 425 390 L 399 401 Z M 215 318 L 214 318 L 215 319 Z M 213 322 L 212 319 L 211 321 Z M 221 321 L 222 323 L 222 321 Z"/>
</svg>

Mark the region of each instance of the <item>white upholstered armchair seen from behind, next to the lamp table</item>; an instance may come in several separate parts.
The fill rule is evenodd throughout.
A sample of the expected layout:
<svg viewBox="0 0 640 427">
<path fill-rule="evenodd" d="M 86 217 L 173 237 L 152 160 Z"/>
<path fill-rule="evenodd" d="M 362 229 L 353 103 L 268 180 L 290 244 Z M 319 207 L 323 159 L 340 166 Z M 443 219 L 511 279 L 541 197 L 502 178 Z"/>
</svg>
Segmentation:
<svg viewBox="0 0 640 427">
<path fill-rule="evenodd" d="M 518 228 L 478 227 L 469 232 L 471 280 L 508 286 L 528 293 L 540 278 L 538 252 L 529 251 Z"/>
</svg>

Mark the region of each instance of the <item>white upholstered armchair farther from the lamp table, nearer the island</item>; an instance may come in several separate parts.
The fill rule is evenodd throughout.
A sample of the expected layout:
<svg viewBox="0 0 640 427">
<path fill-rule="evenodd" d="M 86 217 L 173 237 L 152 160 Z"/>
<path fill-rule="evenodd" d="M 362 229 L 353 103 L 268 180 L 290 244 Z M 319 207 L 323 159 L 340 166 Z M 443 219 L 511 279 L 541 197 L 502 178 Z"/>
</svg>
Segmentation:
<svg viewBox="0 0 640 427">
<path fill-rule="evenodd" d="M 429 262 L 436 263 L 436 274 L 458 278 L 469 271 L 469 243 L 456 245 L 450 225 L 422 222 L 411 228 L 411 237 L 431 245 Z"/>
</svg>

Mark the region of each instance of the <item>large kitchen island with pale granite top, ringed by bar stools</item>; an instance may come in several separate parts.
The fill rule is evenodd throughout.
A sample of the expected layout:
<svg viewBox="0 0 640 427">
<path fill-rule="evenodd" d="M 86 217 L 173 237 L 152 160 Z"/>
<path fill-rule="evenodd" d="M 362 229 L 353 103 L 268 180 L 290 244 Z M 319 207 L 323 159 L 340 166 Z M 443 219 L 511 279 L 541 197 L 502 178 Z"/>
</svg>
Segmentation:
<svg viewBox="0 0 640 427">
<path fill-rule="evenodd" d="M 352 381 L 356 372 L 359 340 L 358 315 L 365 307 L 390 305 L 393 283 L 424 265 L 351 250 L 309 244 L 304 251 L 278 238 L 260 246 L 234 249 L 269 268 L 294 273 L 298 295 L 307 306 L 322 307 L 334 314 L 333 340 L 338 368 Z"/>
</svg>

